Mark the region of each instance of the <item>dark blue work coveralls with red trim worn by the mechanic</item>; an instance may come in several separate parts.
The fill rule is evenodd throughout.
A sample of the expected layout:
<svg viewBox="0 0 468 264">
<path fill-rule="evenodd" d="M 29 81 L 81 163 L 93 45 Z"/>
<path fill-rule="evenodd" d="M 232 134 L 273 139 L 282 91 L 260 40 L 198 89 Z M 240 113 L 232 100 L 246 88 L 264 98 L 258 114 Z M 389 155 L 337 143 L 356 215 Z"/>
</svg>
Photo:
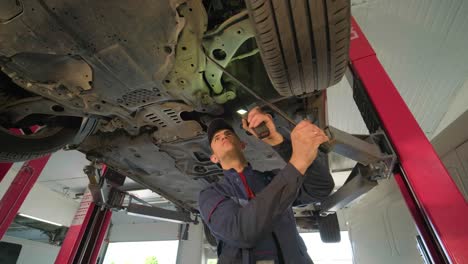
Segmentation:
<svg viewBox="0 0 468 264">
<path fill-rule="evenodd" d="M 288 161 L 291 141 L 273 149 Z M 249 165 L 234 170 L 200 192 L 200 213 L 218 241 L 218 263 L 312 263 L 299 236 L 291 206 L 321 201 L 334 187 L 326 155 L 319 153 L 304 176 L 290 163 L 283 169 L 260 172 Z"/>
</svg>

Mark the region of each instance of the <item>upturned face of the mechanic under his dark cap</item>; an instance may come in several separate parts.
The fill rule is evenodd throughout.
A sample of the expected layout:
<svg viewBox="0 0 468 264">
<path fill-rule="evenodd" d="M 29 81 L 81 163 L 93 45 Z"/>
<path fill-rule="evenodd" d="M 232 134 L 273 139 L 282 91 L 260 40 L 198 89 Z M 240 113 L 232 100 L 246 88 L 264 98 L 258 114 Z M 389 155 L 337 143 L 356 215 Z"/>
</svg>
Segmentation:
<svg viewBox="0 0 468 264">
<path fill-rule="evenodd" d="M 212 161 L 218 163 L 229 153 L 241 153 L 244 148 L 245 144 L 240 141 L 234 132 L 229 129 L 220 130 L 216 132 L 211 141 Z"/>
</svg>

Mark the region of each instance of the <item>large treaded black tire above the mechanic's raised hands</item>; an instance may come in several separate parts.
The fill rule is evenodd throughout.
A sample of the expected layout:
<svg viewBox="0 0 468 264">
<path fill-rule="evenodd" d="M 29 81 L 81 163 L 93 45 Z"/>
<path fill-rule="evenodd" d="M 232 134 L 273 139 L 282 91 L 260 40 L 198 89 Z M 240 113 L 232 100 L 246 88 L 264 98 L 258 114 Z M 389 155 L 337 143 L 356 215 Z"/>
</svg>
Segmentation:
<svg viewBox="0 0 468 264">
<path fill-rule="evenodd" d="M 281 96 L 338 83 L 347 68 L 350 0 L 246 0 L 257 46 Z"/>
</svg>

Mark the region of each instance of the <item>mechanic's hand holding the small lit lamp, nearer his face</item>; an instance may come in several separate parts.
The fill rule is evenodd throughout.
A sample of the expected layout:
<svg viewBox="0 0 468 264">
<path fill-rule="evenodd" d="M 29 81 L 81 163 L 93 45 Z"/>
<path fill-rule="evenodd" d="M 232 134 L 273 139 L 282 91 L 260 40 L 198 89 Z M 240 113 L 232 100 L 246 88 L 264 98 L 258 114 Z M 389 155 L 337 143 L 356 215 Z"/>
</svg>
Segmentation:
<svg viewBox="0 0 468 264">
<path fill-rule="evenodd" d="M 270 135 L 262 139 L 263 142 L 270 146 L 275 146 L 283 142 L 283 136 L 276 130 L 276 126 L 271 115 L 264 113 L 258 106 L 249 111 L 247 121 L 242 119 L 242 128 L 249 131 L 254 136 L 257 136 L 253 131 L 253 128 L 259 126 L 262 122 L 265 122 L 268 130 L 270 130 Z"/>
</svg>

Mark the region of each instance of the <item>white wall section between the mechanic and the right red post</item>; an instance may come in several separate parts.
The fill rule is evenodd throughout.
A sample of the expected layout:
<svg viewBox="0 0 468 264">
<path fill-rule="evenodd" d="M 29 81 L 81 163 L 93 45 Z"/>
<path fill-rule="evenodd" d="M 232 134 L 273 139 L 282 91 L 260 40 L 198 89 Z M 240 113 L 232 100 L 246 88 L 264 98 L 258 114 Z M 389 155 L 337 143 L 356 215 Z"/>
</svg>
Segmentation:
<svg viewBox="0 0 468 264">
<path fill-rule="evenodd" d="M 346 215 L 354 263 L 423 263 L 413 218 L 394 179 L 380 181 Z"/>
</svg>

